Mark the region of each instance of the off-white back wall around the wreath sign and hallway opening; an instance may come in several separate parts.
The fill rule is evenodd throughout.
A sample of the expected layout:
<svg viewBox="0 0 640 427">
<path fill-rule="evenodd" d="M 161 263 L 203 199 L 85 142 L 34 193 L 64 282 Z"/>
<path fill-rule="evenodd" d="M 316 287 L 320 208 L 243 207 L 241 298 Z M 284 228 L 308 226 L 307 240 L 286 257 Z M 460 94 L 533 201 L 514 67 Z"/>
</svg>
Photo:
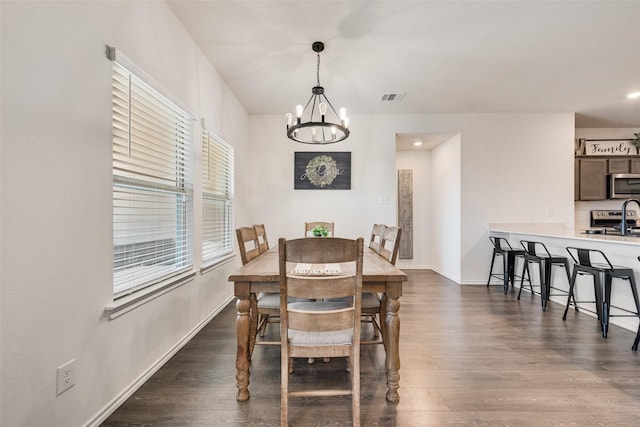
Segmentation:
<svg viewBox="0 0 640 427">
<path fill-rule="evenodd" d="M 299 237 L 302 224 L 311 219 L 335 221 L 337 234 L 365 238 L 376 222 L 396 223 L 396 207 L 378 203 L 381 195 L 396 200 L 396 133 L 460 133 L 460 231 L 459 238 L 453 237 L 459 240 L 460 255 L 458 260 L 442 262 L 438 267 L 442 274 L 465 284 L 486 283 L 489 222 L 573 226 L 572 113 L 353 116 L 349 139 L 324 147 L 352 151 L 350 191 L 293 190 L 293 152 L 310 148 L 287 140 L 280 115 L 251 116 L 249 121 L 251 155 L 245 170 L 259 172 L 244 177 L 251 180 L 247 187 L 251 209 L 243 220 L 264 219 L 260 222 L 273 230 L 271 236 Z M 438 164 L 447 166 L 458 169 Z M 432 215 L 433 208 L 424 219 L 416 215 L 414 227 L 425 234 L 414 233 L 414 241 L 425 239 L 432 248 L 445 247 L 444 240 L 452 238 L 448 230 L 452 225 L 434 222 L 447 231 L 432 235 L 428 226 L 420 224 Z M 449 248 L 446 253 L 455 252 Z"/>
</svg>

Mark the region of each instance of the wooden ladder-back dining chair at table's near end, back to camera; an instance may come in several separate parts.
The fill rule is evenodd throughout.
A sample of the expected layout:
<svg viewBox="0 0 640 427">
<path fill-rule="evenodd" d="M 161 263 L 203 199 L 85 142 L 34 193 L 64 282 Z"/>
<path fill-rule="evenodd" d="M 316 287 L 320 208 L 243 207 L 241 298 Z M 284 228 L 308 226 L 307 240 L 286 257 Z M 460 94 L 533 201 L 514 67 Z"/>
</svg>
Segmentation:
<svg viewBox="0 0 640 427">
<path fill-rule="evenodd" d="M 360 425 L 360 305 L 364 240 L 302 238 L 279 245 L 281 405 L 280 424 L 287 426 L 289 398 L 351 396 L 352 422 Z M 336 271 L 336 264 L 339 265 Z M 345 264 L 346 263 L 346 264 Z M 303 264 L 324 265 L 319 271 Z M 289 302 L 288 298 L 311 301 Z M 339 298 L 327 302 L 325 299 Z M 348 298 L 347 300 L 344 300 Z M 346 357 L 350 387 L 290 388 L 293 358 Z M 304 406 L 301 406 L 304 408 Z"/>
</svg>

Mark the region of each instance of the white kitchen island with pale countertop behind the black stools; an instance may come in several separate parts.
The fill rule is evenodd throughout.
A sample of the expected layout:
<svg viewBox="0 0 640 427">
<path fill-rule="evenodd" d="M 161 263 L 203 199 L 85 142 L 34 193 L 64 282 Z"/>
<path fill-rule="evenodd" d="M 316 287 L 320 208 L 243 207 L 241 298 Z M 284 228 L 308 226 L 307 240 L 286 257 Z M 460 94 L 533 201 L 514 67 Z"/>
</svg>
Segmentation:
<svg viewBox="0 0 640 427">
<path fill-rule="evenodd" d="M 612 264 L 633 268 L 635 270 L 636 282 L 640 284 L 640 261 L 638 261 L 638 256 L 640 256 L 640 237 L 638 236 L 586 234 L 584 229 L 567 228 L 563 224 L 556 223 L 490 223 L 488 231 L 491 236 L 506 238 L 514 248 L 520 247 L 520 240 L 535 240 L 544 243 L 551 254 L 567 256 L 569 259 L 571 259 L 571 257 L 566 250 L 567 246 L 601 250 L 606 254 Z M 518 258 L 516 264 L 517 275 L 521 274 L 522 267 L 522 258 Z M 573 269 L 573 266 L 571 268 Z M 537 269 L 530 268 L 529 270 L 533 283 L 539 283 Z M 588 284 L 583 284 L 581 281 L 586 281 Z M 552 283 L 556 288 L 567 291 L 569 289 L 567 277 L 560 268 L 553 268 Z M 520 286 L 517 280 L 516 286 Z M 524 286 L 524 290 L 528 290 L 526 283 Z M 595 296 L 593 295 L 591 278 L 578 276 L 576 280 L 576 292 L 579 295 L 579 300 L 594 300 Z M 635 311 L 633 295 L 628 281 L 614 280 L 611 300 L 613 305 Z M 564 296 L 552 296 L 550 301 L 563 306 L 567 303 L 567 299 Z M 584 306 L 584 308 L 588 310 L 595 310 L 594 304 L 579 304 L 579 306 Z M 552 310 L 552 312 L 560 315 L 562 313 L 561 310 Z M 586 313 L 584 311 L 581 312 Z M 612 311 L 612 313 L 614 312 Z M 595 317 L 595 314 L 591 315 Z M 569 321 L 570 319 L 567 318 L 567 322 Z M 613 317 L 611 318 L 611 324 L 634 332 L 638 330 L 638 319 L 636 317 Z"/>
</svg>

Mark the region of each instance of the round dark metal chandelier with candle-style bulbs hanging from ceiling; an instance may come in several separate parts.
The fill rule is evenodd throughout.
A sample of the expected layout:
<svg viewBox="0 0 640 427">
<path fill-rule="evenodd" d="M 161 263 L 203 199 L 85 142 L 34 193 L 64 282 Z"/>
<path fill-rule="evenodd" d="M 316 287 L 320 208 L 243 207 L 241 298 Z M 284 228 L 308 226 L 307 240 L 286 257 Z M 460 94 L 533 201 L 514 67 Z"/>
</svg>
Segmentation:
<svg viewBox="0 0 640 427">
<path fill-rule="evenodd" d="M 320 86 L 320 52 L 324 50 L 324 43 L 314 42 L 311 48 L 318 56 L 317 84 L 311 89 L 311 98 L 307 105 L 296 106 L 295 123 L 293 114 L 286 114 L 287 137 L 303 144 L 333 144 L 349 136 L 349 117 L 346 108 L 340 108 L 336 112 L 324 94 L 324 88 Z M 329 117 L 327 112 L 330 114 Z"/>
</svg>

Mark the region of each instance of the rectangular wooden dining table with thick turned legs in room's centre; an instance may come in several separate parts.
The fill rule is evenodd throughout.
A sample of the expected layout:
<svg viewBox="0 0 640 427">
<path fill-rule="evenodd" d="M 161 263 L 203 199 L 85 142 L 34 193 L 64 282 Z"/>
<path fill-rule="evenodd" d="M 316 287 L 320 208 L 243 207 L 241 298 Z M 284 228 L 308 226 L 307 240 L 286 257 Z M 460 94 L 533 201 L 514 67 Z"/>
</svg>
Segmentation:
<svg viewBox="0 0 640 427">
<path fill-rule="evenodd" d="M 249 399 L 249 377 L 251 353 L 256 339 L 258 326 L 255 314 L 256 295 L 260 292 L 279 292 L 280 274 L 278 271 L 278 248 L 258 256 L 243 265 L 228 278 L 234 282 L 237 297 L 236 333 L 238 349 L 236 353 L 236 382 L 238 401 Z M 382 294 L 381 312 L 385 313 L 383 326 L 383 344 L 385 349 L 385 368 L 387 376 L 387 400 L 400 401 L 400 301 L 402 285 L 407 275 L 393 264 L 380 257 L 375 251 L 365 248 L 363 256 L 362 292 Z M 252 309 L 253 308 L 253 309 Z"/>
</svg>

